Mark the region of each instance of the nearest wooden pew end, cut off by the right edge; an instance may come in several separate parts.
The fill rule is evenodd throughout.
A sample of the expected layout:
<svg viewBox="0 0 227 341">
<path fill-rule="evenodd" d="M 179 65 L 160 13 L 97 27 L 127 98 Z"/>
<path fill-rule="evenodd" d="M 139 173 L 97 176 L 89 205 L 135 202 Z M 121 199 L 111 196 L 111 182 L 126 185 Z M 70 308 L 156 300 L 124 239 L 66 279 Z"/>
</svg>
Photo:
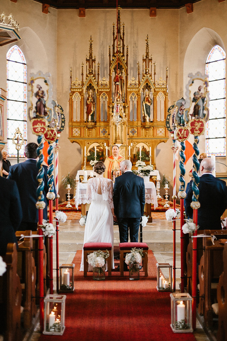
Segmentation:
<svg viewBox="0 0 227 341">
<path fill-rule="evenodd" d="M 223 251 L 223 273 L 217 285 L 218 331 L 217 341 L 227 341 L 227 242 Z"/>
</svg>

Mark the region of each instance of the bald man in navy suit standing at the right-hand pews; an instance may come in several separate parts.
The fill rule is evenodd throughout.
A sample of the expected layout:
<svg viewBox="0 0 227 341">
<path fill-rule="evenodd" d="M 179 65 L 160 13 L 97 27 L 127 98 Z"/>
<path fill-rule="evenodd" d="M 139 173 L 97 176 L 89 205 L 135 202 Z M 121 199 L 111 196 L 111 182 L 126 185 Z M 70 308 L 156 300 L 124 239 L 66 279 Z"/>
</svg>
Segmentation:
<svg viewBox="0 0 227 341">
<path fill-rule="evenodd" d="M 215 178 L 212 175 L 214 170 L 214 161 L 210 158 L 205 158 L 200 164 L 199 178 L 199 203 L 198 209 L 198 225 L 199 230 L 222 229 L 221 216 L 227 207 L 227 188 L 225 181 Z M 193 217 L 192 202 L 192 181 L 188 186 L 187 196 L 184 199 L 184 208 L 189 218 Z"/>
</svg>

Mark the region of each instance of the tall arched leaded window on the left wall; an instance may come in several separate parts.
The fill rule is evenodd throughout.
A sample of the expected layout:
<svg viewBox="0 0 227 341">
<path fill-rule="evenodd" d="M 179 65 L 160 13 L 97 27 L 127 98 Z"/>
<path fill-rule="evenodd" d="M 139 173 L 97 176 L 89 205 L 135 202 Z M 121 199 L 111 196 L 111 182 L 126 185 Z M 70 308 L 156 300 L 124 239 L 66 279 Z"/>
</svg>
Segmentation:
<svg viewBox="0 0 227 341">
<path fill-rule="evenodd" d="M 17 150 L 12 138 L 19 127 L 25 140 L 19 150 L 19 156 L 24 157 L 27 143 L 27 66 L 25 56 L 17 45 L 7 52 L 6 68 L 8 154 L 10 157 L 17 157 Z"/>
</svg>

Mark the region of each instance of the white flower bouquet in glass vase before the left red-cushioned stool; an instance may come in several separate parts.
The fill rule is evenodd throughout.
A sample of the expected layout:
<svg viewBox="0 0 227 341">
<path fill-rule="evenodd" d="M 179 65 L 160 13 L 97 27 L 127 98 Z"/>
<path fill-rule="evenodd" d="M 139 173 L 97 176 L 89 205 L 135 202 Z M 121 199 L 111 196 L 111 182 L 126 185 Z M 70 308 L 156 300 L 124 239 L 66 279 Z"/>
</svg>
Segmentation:
<svg viewBox="0 0 227 341">
<path fill-rule="evenodd" d="M 87 256 L 87 263 L 93 266 L 93 279 L 105 279 L 106 259 L 109 257 L 109 251 L 103 252 L 101 250 L 94 251 Z M 111 264 L 110 264 L 111 266 Z"/>
</svg>

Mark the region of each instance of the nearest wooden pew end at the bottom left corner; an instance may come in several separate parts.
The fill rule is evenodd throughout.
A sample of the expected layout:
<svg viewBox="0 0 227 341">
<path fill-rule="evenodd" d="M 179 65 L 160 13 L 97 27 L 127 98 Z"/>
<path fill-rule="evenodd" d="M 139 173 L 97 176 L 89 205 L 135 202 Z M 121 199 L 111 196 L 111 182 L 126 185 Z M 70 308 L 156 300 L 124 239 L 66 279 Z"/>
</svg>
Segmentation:
<svg viewBox="0 0 227 341">
<path fill-rule="evenodd" d="M 3 261 L 7 265 L 6 272 L 3 276 L 0 276 L 1 323 L 5 325 L 4 341 L 20 341 L 21 285 L 17 275 L 17 249 L 15 243 L 7 245 Z"/>
</svg>

